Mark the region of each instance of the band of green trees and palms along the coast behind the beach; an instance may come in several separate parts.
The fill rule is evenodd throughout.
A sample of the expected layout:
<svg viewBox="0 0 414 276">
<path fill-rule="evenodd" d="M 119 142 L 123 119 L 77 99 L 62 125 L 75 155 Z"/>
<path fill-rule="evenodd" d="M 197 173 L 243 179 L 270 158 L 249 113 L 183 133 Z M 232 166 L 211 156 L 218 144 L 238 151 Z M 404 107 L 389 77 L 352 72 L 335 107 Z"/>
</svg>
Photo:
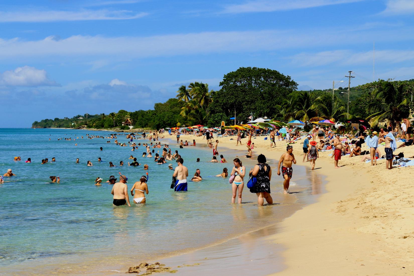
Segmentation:
<svg viewBox="0 0 414 276">
<path fill-rule="evenodd" d="M 347 89 L 340 87 L 332 96 L 332 89 L 297 91 L 297 86 L 290 76 L 276 70 L 241 67 L 224 75 L 218 91 L 209 89 L 209 85 L 202 82 L 182 85 L 178 87 L 176 98 L 156 103 L 152 110 L 119 110 L 110 114 L 44 119 L 35 121 L 32 127 L 128 130 L 129 127 L 123 125 L 127 119 L 133 127 L 142 129 L 197 124 L 214 127 L 219 126 L 221 121 L 231 124 L 230 118 L 234 116 L 239 122 L 247 122 L 250 116 L 267 116 L 279 121 L 328 119 L 335 122 L 361 117 L 375 126 L 387 119 L 395 124 L 414 110 L 413 80 L 379 79 L 352 87 L 349 112 Z"/>
</svg>

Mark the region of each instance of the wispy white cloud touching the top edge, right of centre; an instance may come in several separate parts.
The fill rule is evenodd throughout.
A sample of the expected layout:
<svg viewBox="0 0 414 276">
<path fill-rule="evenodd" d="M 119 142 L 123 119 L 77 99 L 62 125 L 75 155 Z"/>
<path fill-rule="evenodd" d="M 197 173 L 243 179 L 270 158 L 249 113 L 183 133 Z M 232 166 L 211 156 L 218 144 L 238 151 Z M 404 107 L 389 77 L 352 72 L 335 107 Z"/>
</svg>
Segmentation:
<svg viewBox="0 0 414 276">
<path fill-rule="evenodd" d="M 362 0 L 253 0 L 243 4 L 228 5 L 222 13 L 246 12 L 274 12 L 284 10 L 297 10 L 327 5 L 339 5 Z"/>
</svg>

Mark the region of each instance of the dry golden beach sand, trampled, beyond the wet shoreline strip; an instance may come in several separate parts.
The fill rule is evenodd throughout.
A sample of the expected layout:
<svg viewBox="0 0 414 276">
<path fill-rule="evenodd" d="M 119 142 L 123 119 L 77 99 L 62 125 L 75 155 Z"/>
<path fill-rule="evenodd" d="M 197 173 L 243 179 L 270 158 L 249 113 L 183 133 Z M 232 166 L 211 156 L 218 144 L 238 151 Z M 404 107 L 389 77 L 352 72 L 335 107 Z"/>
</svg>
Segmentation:
<svg viewBox="0 0 414 276">
<path fill-rule="evenodd" d="M 194 135 L 180 139 L 206 143 Z M 226 146 L 240 149 L 240 156 L 247 154 L 247 138 L 242 146 L 236 146 L 235 137 L 216 139 L 219 152 Z M 279 159 L 286 151 L 282 141 L 272 149 L 264 137 L 252 142 L 254 159 L 260 153 Z M 302 163 L 301 140 L 293 146 L 297 165 L 310 168 Z M 385 154 L 383 146 L 379 149 Z M 394 154 L 400 151 L 406 158 L 414 156 L 414 146 Z M 315 166 L 327 176 L 327 192 L 280 223 L 279 232 L 269 237 L 286 248 L 282 255 L 287 268 L 275 275 L 414 275 L 414 166 L 385 170 L 385 160 L 372 167 L 360 162 L 361 156 L 342 156 L 341 168 L 335 169 L 329 154 L 320 152 Z M 277 169 L 272 172 L 276 175 Z"/>
</svg>

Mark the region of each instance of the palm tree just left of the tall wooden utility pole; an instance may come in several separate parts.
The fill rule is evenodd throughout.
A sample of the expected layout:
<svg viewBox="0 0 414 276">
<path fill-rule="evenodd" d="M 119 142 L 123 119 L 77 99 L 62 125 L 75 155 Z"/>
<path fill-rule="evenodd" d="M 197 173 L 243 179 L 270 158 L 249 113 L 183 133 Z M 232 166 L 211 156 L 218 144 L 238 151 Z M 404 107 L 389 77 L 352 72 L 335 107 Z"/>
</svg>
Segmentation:
<svg viewBox="0 0 414 276">
<path fill-rule="evenodd" d="M 315 99 L 312 105 L 312 109 L 316 112 L 316 117 L 310 118 L 319 120 L 320 118 L 331 120 L 335 122 L 335 119 L 338 119 L 342 116 L 351 118 L 349 113 L 343 113 L 345 111 L 345 106 L 342 105 L 342 101 L 335 97 L 332 101 L 332 96 L 330 94 L 323 94 Z"/>
</svg>

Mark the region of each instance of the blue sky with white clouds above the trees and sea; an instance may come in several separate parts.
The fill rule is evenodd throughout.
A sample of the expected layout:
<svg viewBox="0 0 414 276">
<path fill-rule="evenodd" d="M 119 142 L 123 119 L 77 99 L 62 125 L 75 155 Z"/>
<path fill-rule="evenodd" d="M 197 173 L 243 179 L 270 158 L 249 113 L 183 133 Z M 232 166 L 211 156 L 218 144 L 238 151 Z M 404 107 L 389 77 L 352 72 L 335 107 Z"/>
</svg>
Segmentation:
<svg viewBox="0 0 414 276">
<path fill-rule="evenodd" d="M 0 4 L 0 127 L 152 109 L 246 66 L 313 89 L 350 70 L 351 86 L 411 79 L 413 18 L 412 0 L 15 0 Z"/>
</svg>

